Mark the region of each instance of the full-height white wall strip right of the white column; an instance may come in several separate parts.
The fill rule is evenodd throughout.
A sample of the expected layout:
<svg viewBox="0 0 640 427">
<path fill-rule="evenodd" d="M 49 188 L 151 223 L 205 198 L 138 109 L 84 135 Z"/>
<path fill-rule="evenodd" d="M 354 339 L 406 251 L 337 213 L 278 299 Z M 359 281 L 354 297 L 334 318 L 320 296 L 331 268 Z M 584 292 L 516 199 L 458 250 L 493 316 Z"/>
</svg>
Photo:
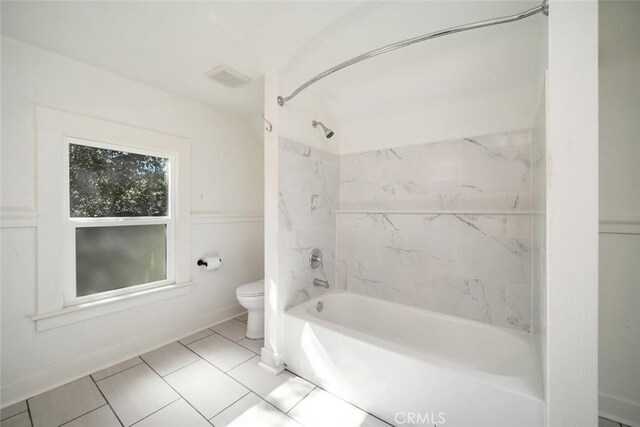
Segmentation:
<svg viewBox="0 0 640 427">
<path fill-rule="evenodd" d="M 640 426 L 640 2 L 599 11 L 599 409 Z"/>
</svg>

